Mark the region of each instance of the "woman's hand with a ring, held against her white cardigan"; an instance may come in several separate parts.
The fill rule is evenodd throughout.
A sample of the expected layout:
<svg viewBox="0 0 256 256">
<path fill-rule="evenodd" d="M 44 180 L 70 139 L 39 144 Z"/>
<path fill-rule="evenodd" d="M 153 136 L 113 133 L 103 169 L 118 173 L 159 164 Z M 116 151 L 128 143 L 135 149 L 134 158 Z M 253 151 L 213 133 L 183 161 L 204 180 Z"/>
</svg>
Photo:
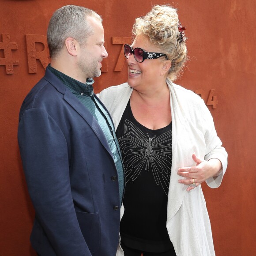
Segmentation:
<svg viewBox="0 0 256 256">
<path fill-rule="evenodd" d="M 205 161 L 197 158 L 195 153 L 192 154 L 192 158 L 196 162 L 196 166 L 181 167 L 177 172 L 178 175 L 186 178 L 178 180 L 178 182 L 188 185 L 187 191 L 196 188 L 210 177 L 218 176 L 222 169 L 222 163 L 217 158 L 211 158 L 209 161 Z"/>
</svg>

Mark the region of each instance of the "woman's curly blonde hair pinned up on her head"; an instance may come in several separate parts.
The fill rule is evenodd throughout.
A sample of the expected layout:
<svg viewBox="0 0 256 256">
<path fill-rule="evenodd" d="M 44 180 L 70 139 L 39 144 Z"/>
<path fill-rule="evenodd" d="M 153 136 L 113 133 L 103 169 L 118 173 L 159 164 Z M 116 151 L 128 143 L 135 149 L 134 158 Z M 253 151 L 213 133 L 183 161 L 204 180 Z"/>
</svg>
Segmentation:
<svg viewBox="0 0 256 256">
<path fill-rule="evenodd" d="M 177 9 L 167 5 L 156 5 L 146 16 L 137 18 L 132 33 L 146 35 L 172 61 L 168 77 L 175 81 L 187 60 L 185 36 L 179 31 Z M 182 40 L 181 40 L 182 38 Z"/>
</svg>

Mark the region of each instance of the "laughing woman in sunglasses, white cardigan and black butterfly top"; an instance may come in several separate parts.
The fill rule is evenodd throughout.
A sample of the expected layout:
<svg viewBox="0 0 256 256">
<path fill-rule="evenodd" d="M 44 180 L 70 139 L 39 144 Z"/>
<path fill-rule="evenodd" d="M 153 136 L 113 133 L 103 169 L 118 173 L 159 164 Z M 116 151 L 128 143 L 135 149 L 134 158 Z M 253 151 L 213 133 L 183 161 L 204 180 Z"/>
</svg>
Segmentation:
<svg viewBox="0 0 256 256">
<path fill-rule="evenodd" d="M 184 30 L 169 6 L 136 19 L 124 46 L 128 82 L 99 95 L 125 168 L 125 256 L 215 255 L 200 184 L 220 185 L 227 153 L 203 100 L 172 82 L 187 58 Z"/>
</svg>

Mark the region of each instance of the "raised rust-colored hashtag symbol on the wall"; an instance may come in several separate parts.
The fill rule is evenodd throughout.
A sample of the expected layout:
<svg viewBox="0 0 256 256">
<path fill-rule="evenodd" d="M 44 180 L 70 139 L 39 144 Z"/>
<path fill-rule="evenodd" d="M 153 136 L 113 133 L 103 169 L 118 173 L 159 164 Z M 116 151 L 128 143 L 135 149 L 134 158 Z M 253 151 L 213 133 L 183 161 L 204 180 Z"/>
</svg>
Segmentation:
<svg viewBox="0 0 256 256">
<path fill-rule="evenodd" d="M 4 50 L 4 58 L 0 58 L 0 65 L 5 65 L 6 74 L 13 74 L 13 65 L 19 65 L 19 58 L 12 58 L 12 50 L 18 50 L 18 43 L 12 43 L 10 34 L 2 34 L 0 50 Z"/>
</svg>

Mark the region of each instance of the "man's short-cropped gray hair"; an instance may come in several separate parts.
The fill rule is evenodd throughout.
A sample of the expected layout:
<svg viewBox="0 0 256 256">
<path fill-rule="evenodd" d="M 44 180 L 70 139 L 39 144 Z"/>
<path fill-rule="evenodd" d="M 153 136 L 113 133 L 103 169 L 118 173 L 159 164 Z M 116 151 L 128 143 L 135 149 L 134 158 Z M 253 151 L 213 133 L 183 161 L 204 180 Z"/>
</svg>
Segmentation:
<svg viewBox="0 0 256 256">
<path fill-rule="evenodd" d="M 47 30 L 51 58 L 60 53 L 68 37 L 75 38 L 80 45 L 86 43 L 87 38 L 93 34 L 93 28 L 87 22 L 88 16 L 102 22 L 100 15 L 82 6 L 66 5 L 53 13 Z"/>
</svg>

